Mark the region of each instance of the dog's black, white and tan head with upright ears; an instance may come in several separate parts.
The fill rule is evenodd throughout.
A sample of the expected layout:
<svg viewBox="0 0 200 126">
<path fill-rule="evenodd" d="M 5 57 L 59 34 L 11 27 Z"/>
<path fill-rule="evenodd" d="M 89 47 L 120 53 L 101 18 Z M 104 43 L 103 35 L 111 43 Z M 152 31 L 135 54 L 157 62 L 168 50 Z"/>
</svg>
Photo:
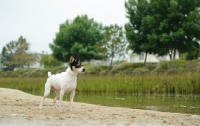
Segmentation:
<svg viewBox="0 0 200 126">
<path fill-rule="evenodd" d="M 80 59 L 75 59 L 72 55 L 69 59 L 69 65 L 72 71 L 74 72 L 85 72 L 86 69 L 81 65 Z"/>
</svg>

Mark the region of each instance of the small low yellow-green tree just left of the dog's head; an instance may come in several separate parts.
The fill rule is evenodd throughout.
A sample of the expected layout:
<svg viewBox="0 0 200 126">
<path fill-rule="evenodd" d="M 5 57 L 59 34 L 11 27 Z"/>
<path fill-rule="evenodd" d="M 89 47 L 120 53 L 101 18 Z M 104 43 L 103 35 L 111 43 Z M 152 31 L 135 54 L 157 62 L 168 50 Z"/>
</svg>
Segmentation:
<svg viewBox="0 0 200 126">
<path fill-rule="evenodd" d="M 63 64 L 63 62 L 58 61 L 50 55 L 43 55 L 40 63 L 44 64 L 44 68 L 46 69 L 54 68 Z"/>
</svg>

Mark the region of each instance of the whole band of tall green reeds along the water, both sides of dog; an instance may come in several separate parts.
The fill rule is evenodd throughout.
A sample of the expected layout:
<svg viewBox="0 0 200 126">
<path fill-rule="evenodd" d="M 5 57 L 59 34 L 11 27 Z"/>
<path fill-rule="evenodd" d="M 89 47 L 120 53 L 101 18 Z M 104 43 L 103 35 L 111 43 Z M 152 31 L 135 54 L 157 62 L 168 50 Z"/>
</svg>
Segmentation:
<svg viewBox="0 0 200 126">
<path fill-rule="evenodd" d="M 44 92 L 46 78 L 0 78 L 0 87 Z M 79 76 L 77 92 L 121 94 L 200 94 L 200 74 Z"/>
</svg>

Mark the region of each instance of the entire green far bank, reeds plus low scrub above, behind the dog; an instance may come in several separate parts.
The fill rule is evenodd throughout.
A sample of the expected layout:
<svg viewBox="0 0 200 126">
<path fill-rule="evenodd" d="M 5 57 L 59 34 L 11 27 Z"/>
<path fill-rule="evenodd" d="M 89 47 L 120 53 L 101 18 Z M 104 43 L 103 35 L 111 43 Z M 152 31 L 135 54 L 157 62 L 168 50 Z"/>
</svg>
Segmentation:
<svg viewBox="0 0 200 126">
<path fill-rule="evenodd" d="M 200 61 L 175 60 L 159 65 L 122 64 L 87 66 L 79 74 L 76 92 L 120 94 L 197 94 L 200 95 Z M 65 67 L 51 69 L 52 73 Z M 0 71 L 0 87 L 42 95 L 48 70 Z"/>
</svg>

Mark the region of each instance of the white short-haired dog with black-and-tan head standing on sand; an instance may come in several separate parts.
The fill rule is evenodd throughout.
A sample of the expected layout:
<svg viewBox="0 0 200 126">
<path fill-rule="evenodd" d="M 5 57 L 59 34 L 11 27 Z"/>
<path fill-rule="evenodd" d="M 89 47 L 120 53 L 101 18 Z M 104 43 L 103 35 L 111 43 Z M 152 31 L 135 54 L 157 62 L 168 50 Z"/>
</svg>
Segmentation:
<svg viewBox="0 0 200 126">
<path fill-rule="evenodd" d="M 53 103 L 56 106 L 56 100 L 59 100 L 59 111 L 62 111 L 62 98 L 64 94 L 70 92 L 70 111 L 72 111 L 72 104 L 77 86 L 77 74 L 83 72 L 86 72 L 86 69 L 81 65 L 80 59 L 75 60 L 72 55 L 65 72 L 56 75 L 51 75 L 51 73 L 48 72 L 44 97 L 39 108 L 42 109 L 45 98 L 49 95 L 50 91 L 53 90 L 56 93 Z"/>
</svg>

